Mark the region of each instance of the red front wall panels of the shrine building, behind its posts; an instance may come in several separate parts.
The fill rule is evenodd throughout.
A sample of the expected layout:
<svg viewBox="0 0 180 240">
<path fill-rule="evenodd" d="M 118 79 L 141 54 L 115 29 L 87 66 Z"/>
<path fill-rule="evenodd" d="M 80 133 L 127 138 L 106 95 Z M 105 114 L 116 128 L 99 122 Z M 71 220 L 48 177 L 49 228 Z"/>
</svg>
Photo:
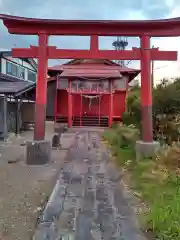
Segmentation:
<svg viewBox="0 0 180 240">
<path fill-rule="evenodd" d="M 127 88 L 127 77 L 121 79 L 113 80 L 113 89 L 115 93 L 113 94 L 113 117 L 121 118 L 122 113 L 125 111 L 125 99 L 126 99 L 126 88 Z M 59 81 L 57 90 L 57 116 L 68 116 L 68 93 L 66 88 L 68 84 L 64 84 L 67 81 Z M 47 116 L 54 115 L 54 103 L 55 103 L 55 85 L 48 84 L 48 101 L 47 101 Z M 98 116 L 99 110 L 101 116 L 109 116 L 109 95 L 104 94 L 101 96 L 100 109 L 97 99 L 97 104 L 92 104 L 89 108 L 88 100 L 84 98 L 82 100 L 81 109 L 81 96 L 80 94 L 72 95 L 72 115 L 80 116 L 80 114 L 86 114 L 91 116 Z"/>
</svg>

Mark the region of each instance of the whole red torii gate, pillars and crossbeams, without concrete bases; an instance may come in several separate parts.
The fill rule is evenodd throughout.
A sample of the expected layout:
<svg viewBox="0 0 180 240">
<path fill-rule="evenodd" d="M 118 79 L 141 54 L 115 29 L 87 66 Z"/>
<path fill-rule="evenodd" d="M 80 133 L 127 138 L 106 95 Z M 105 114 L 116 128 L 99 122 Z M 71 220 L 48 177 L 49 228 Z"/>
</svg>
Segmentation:
<svg viewBox="0 0 180 240">
<path fill-rule="evenodd" d="M 48 59 L 109 59 L 141 61 L 142 140 L 153 142 L 151 61 L 177 60 L 176 51 L 150 48 L 151 37 L 180 36 L 180 18 L 147 21 L 80 21 L 0 15 L 9 33 L 38 35 L 38 47 L 12 49 L 13 57 L 38 59 L 34 140 L 44 140 Z M 90 50 L 63 50 L 48 46 L 50 35 L 90 36 Z M 138 36 L 140 48 L 99 50 L 98 36 Z M 72 101 L 71 97 L 69 98 Z"/>
</svg>

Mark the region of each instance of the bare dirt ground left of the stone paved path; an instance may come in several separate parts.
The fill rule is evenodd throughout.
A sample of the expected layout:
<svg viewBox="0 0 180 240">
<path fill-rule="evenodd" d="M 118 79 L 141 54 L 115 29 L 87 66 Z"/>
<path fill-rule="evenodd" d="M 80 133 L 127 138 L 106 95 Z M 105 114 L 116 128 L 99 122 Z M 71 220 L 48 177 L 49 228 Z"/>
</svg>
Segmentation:
<svg viewBox="0 0 180 240">
<path fill-rule="evenodd" d="M 51 140 L 53 124 L 46 124 Z M 53 150 L 51 164 L 25 164 L 25 140 L 33 131 L 0 142 L 0 240 L 31 239 L 42 206 L 51 194 L 67 150 Z"/>
</svg>

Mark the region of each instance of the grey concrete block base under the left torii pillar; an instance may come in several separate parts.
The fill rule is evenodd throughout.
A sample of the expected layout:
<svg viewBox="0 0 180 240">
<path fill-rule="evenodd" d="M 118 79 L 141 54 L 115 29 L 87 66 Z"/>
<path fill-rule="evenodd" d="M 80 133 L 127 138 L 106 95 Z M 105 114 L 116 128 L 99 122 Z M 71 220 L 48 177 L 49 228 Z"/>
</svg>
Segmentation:
<svg viewBox="0 0 180 240">
<path fill-rule="evenodd" d="M 44 165 L 51 162 L 52 146 L 50 141 L 28 141 L 26 143 L 26 163 Z"/>
</svg>

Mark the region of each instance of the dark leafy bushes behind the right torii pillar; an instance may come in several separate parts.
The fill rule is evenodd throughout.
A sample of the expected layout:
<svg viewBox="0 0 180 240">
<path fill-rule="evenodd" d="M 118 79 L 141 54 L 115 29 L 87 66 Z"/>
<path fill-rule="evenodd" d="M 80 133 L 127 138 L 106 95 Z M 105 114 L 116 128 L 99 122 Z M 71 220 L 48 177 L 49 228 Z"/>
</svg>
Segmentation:
<svg viewBox="0 0 180 240">
<path fill-rule="evenodd" d="M 123 122 L 141 128 L 140 88 L 132 89 L 127 98 L 127 112 Z M 154 139 L 171 144 L 180 133 L 180 78 L 169 82 L 163 79 L 153 89 Z"/>
</svg>

